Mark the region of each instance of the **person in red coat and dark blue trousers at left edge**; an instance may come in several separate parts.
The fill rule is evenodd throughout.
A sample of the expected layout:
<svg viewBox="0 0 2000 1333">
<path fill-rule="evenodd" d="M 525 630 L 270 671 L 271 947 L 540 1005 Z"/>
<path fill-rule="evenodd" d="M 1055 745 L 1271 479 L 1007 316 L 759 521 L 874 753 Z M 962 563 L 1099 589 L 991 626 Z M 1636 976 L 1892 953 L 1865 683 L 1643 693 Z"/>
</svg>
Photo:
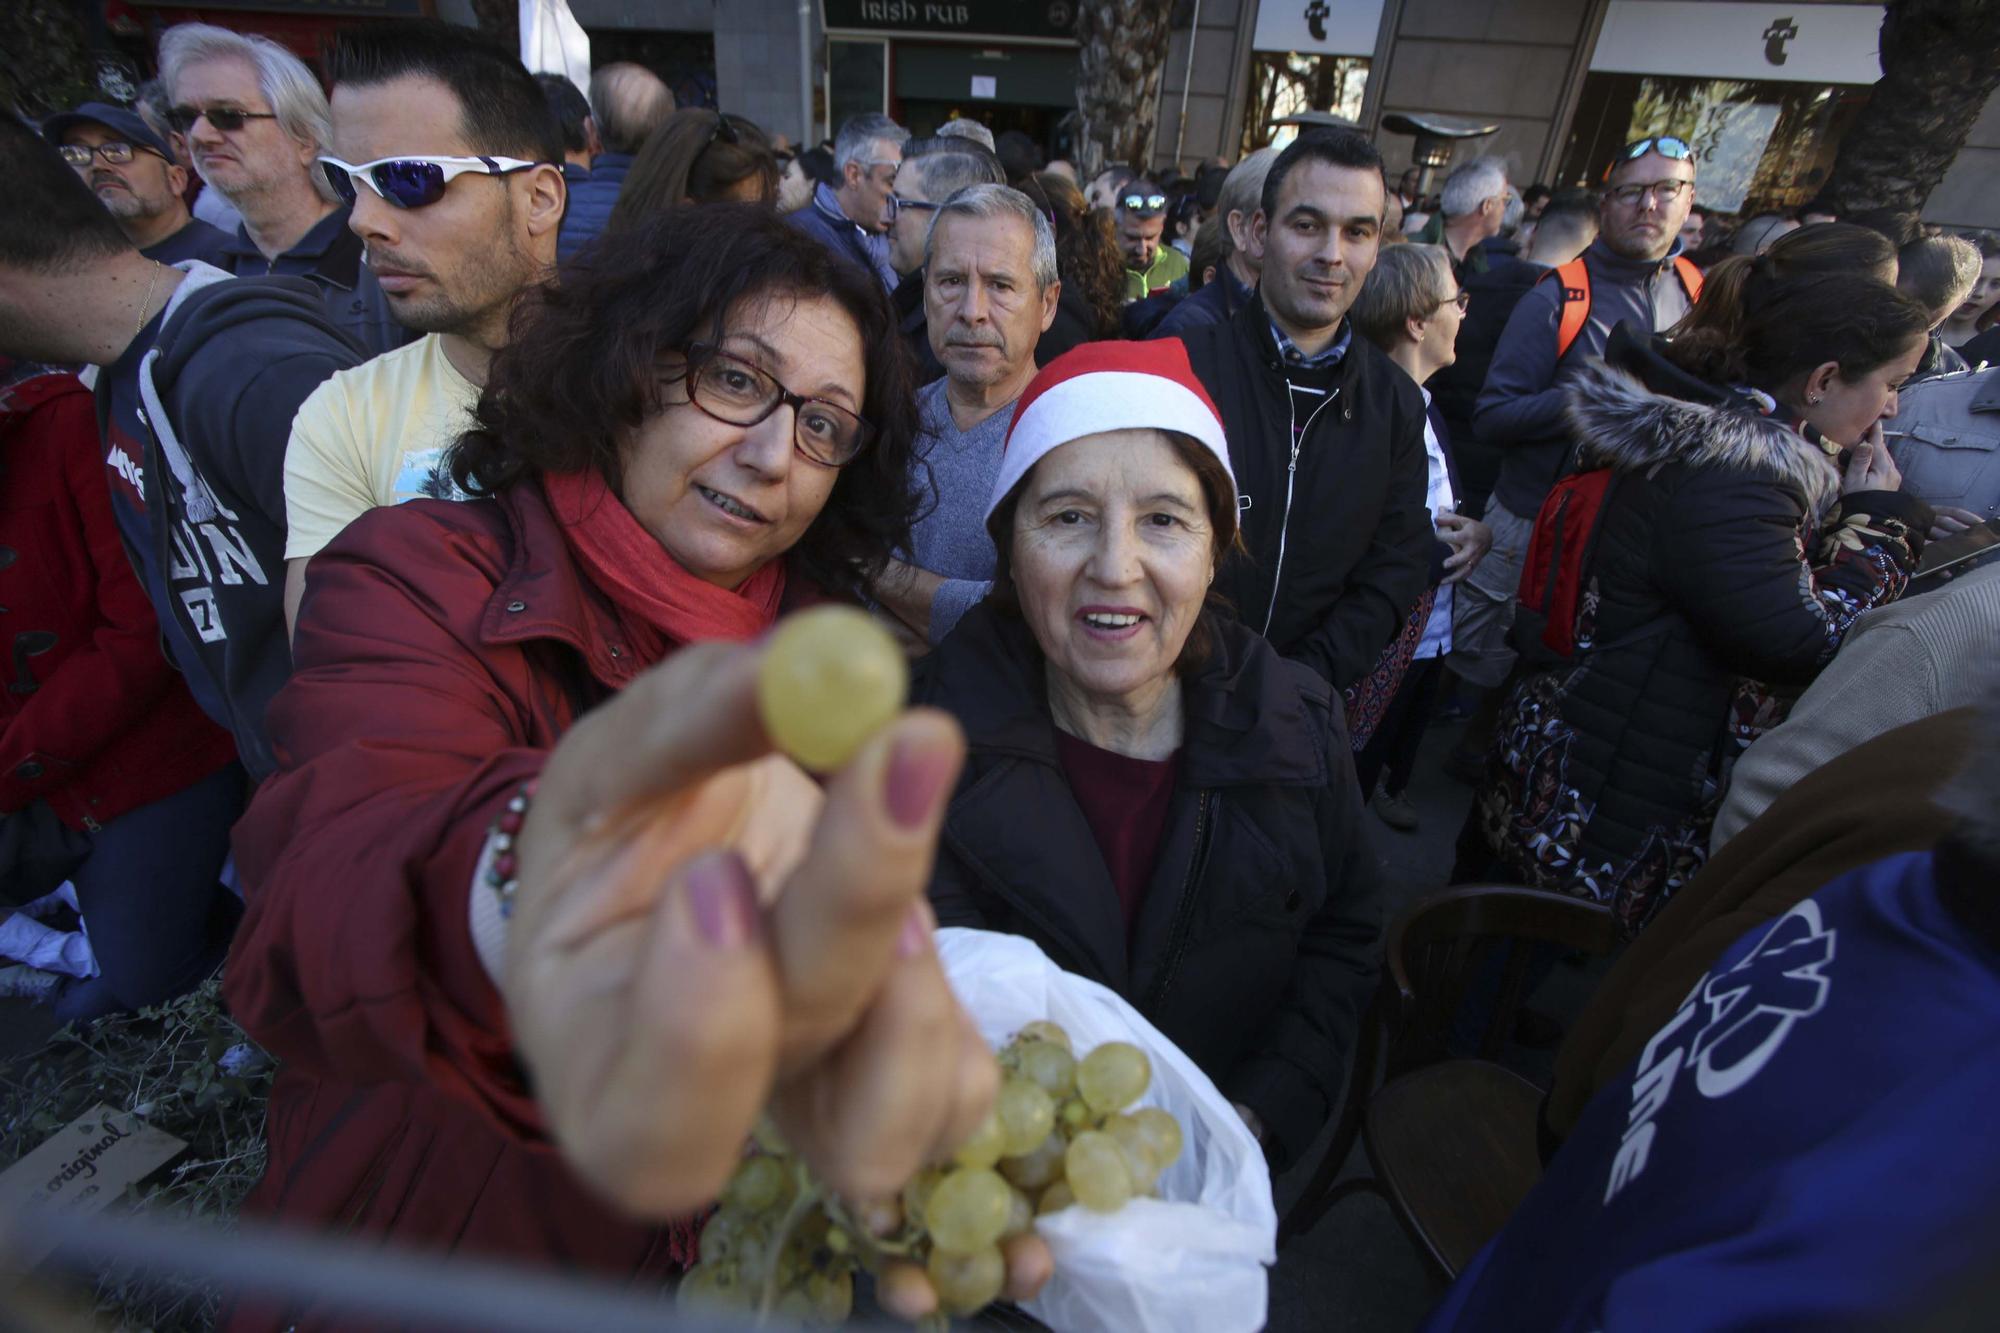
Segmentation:
<svg viewBox="0 0 2000 1333">
<path fill-rule="evenodd" d="M 222 961 L 244 801 L 230 735 L 160 652 L 112 520 L 90 390 L 0 358 L 0 899 L 76 885 L 102 975 L 64 1021 L 168 1001 Z"/>
</svg>

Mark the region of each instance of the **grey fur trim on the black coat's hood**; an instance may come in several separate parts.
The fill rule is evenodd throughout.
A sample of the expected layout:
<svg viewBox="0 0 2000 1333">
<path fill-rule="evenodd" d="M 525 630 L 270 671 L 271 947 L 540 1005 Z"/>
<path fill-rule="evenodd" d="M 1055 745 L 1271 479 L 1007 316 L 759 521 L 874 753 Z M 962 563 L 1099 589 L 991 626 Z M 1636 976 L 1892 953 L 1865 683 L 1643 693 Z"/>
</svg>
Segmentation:
<svg viewBox="0 0 2000 1333">
<path fill-rule="evenodd" d="M 1840 472 L 1826 450 L 1726 392 L 1710 390 L 1708 400 L 1658 394 L 1638 376 L 1590 360 L 1568 388 L 1582 464 L 1620 472 L 1660 462 L 1722 466 L 1784 482 L 1810 514 L 1824 514 L 1840 498 Z"/>
</svg>

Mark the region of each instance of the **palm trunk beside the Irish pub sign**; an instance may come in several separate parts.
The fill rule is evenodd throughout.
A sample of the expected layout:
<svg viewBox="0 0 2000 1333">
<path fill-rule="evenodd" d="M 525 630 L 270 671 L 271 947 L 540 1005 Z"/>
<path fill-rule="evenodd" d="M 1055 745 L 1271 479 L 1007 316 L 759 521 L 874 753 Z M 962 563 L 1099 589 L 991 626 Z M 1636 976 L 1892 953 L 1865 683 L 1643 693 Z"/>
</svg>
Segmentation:
<svg viewBox="0 0 2000 1333">
<path fill-rule="evenodd" d="M 1116 162 L 1146 170 L 1172 14 L 1174 0 L 1084 0 L 1076 6 L 1084 180 Z"/>
</svg>

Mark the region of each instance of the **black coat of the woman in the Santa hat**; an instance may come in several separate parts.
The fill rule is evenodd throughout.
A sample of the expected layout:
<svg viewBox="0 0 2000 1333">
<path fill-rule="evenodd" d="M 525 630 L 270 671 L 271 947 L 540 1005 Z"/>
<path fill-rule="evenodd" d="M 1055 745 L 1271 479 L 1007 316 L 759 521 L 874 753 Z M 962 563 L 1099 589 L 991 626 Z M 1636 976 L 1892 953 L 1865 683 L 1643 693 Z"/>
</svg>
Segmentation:
<svg viewBox="0 0 2000 1333">
<path fill-rule="evenodd" d="M 1380 875 L 1326 683 L 1238 624 L 1186 681 L 1164 843 L 1130 939 L 1056 753 L 1028 626 L 974 606 L 918 666 L 966 729 L 930 901 L 1024 935 L 1138 1007 L 1266 1127 L 1274 1167 L 1332 1113 L 1380 949 Z"/>
</svg>

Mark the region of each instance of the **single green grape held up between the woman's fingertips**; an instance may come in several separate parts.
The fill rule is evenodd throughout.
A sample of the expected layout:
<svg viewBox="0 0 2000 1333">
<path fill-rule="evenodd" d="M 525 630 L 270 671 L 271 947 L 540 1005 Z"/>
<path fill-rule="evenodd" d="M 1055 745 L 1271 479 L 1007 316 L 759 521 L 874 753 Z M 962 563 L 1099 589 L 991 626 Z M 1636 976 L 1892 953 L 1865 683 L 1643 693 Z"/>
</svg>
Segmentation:
<svg viewBox="0 0 2000 1333">
<path fill-rule="evenodd" d="M 786 616 L 764 650 L 756 701 L 772 743 L 830 773 L 902 711 L 910 666 L 888 630 L 854 606 Z"/>
</svg>

